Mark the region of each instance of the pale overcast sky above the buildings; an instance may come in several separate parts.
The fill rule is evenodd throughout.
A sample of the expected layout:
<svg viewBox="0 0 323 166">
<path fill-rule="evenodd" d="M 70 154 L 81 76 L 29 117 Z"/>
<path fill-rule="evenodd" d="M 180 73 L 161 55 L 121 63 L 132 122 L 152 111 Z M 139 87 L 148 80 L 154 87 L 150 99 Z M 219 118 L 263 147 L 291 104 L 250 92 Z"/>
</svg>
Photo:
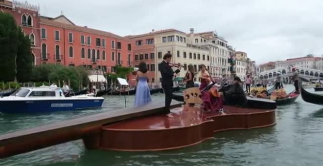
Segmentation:
<svg viewBox="0 0 323 166">
<path fill-rule="evenodd" d="M 214 31 L 257 64 L 323 54 L 323 0 L 28 0 L 41 14 L 120 36 Z"/>
</svg>

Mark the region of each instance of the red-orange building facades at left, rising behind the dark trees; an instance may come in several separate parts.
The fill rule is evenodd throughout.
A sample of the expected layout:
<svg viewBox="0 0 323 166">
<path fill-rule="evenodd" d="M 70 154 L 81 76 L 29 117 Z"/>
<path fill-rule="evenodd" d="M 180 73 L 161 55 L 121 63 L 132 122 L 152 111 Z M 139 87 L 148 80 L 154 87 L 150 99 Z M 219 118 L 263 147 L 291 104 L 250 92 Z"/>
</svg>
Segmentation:
<svg viewBox="0 0 323 166">
<path fill-rule="evenodd" d="M 131 66 L 132 43 L 115 34 L 75 25 L 64 15 L 39 15 L 28 2 L 0 0 L 2 12 L 14 16 L 31 42 L 34 64 L 56 63 L 114 72 L 114 66 Z"/>
</svg>

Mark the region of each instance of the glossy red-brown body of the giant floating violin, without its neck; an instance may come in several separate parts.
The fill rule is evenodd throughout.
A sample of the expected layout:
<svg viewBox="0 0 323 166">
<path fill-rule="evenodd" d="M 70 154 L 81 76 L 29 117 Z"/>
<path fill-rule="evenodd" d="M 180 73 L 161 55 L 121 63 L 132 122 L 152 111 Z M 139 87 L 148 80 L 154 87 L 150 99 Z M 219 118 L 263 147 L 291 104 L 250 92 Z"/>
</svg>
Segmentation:
<svg viewBox="0 0 323 166">
<path fill-rule="evenodd" d="M 276 124 L 276 111 L 267 109 L 225 106 L 226 113 L 219 114 L 185 105 L 172 112 L 174 118 L 156 115 L 106 125 L 99 146 L 124 151 L 167 150 L 198 144 L 217 131 Z"/>
</svg>

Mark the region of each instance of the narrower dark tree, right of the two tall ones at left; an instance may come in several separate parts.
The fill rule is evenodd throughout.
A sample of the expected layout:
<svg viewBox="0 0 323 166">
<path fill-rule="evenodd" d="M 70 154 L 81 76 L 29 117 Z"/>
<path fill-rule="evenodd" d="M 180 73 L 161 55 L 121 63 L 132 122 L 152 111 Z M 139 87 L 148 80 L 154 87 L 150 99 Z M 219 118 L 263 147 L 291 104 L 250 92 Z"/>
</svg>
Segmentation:
<svg viewBox="0 0 323 166">
<path fill-rule="evenodd" d="M 17 53 L 17 80 L 19 82 L 30 81 L 33 57 L 30 49 L 30 40 L 18 28 L 18 53 Z"/>
</svg>

